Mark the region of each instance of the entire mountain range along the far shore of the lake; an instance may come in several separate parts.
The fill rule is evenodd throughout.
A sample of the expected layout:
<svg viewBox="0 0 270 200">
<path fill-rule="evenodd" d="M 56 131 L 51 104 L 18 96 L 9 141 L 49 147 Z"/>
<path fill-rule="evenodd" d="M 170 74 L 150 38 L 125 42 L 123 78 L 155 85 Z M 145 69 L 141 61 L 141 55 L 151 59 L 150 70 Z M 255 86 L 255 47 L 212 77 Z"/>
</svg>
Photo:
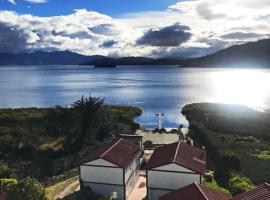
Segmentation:
<svg viewBox="0 0 270 200">
<path fill-rule="evenodd" d="M 0 53 L 0 65 L 179 65 L 180 67 L 270 67 L 270 39 L 234 45 L 199 58 L 109 58 L 70 51 Z M 109 66 L 108 65 L 108 66 Z"/>
</svg>

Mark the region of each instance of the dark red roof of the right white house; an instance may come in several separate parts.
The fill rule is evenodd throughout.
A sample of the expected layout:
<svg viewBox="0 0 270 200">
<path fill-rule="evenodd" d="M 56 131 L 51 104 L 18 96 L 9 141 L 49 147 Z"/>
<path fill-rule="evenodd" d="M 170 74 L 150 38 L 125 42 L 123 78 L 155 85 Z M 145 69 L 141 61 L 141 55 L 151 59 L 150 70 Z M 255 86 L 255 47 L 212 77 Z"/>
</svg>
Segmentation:
<svg viewBox="0 0 270 200">
<path fill-rule="evenodd" d="M 145 169 L 150 170 L 171 163 L 197 173 L 206 171 L 205 151 L 184 142 L 176 142 L 155 149 Z"/>
</svg>

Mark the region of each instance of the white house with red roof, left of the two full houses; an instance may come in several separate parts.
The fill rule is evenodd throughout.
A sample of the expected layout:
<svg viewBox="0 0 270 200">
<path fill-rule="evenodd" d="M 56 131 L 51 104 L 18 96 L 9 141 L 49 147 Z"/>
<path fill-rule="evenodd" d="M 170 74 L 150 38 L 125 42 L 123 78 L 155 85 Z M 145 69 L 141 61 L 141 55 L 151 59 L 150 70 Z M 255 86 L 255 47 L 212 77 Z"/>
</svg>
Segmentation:
<svg viewBox="0 0 270 200">
<path fill-rule="evenodd" d="M 80 165 L 81 188 L 125 200 L 139 178 L 140 146 L 123 138 L 89 154 Z"/>
</svg>

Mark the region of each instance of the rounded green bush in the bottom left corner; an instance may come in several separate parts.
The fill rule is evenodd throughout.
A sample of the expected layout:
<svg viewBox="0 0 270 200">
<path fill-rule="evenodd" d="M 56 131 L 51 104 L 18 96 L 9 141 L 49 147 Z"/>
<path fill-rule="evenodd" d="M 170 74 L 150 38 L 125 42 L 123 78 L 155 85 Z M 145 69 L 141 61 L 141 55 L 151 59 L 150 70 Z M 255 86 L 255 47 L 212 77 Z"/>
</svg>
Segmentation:
<svg viewBox="0 0 270 200">
<path fill-rule="evenodd" d="M 5 191 L 6 200 L 46 200 L 43 185 L 35 179 L 25 178 L 18 183 L 10 184 Z"/>
</svg>

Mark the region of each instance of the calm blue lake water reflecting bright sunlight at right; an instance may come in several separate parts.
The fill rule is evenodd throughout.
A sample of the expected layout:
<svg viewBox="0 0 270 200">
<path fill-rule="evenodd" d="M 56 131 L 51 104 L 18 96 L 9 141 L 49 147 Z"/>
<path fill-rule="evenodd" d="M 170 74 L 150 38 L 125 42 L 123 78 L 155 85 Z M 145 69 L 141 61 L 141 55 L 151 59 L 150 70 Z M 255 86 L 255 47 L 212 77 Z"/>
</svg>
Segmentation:
<svg viewBox="0 0 270 200">
<path fill-rule="evenodd" d="M 155 113 L 165 113 L 163 125 L 187 124 L 180 115 L 189 103 L 244 104 L 270 108 L 270 70 L 182 69 L 174 66 L 129 66 L 95 69 L 87 66 L 2 66 L 0 107 L 69 105 L 82 95 L 106 99 L 108 104 L 138 106 L 137 119 L 156 127 Z"/>
</svg>

